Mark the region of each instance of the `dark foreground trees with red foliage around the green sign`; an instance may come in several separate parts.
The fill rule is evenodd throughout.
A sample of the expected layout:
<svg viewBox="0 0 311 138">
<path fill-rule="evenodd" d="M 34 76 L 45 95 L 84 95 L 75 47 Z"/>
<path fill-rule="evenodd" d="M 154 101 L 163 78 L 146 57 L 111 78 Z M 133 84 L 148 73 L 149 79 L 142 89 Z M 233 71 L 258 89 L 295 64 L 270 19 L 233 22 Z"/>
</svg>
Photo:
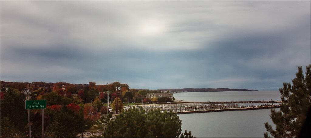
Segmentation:
<svg viewBox="0 0 311 138">
<path fill-rule="evenodd" d="M 45 137 L 77 137 L 95 123 L 100 113 L 98 108 L 102 113 L 107 112 L 98 98 L 92 104 L 83 104 L 80 99 L 64 97 L 52 91 L 39 95 L 38 99 L 47 101 L 47 108 L 44 109 Z M 31 137 L 42 137 L 42 110 L 30 111 Z M 8 88 L 6 92 L 1 92 L 0 128 L 1 137 L 28 137 L 25 95 L 17 89 Z"/>
</svg>

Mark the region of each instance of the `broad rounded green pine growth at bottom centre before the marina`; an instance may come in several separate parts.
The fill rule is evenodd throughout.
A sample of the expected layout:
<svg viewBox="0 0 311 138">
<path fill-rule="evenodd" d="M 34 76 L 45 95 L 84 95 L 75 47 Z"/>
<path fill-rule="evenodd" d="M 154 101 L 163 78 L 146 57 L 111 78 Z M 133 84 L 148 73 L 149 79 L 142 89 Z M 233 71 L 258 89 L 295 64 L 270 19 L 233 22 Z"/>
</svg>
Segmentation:
<svg viewBox="0 0 311 138">
<path fill-rule="evenodd" d="M 178 137 L 181 120 L 172 111 L 160 108 L 148 111 L 142 107 L 123 110 L 105 127 L 104 137 Z"/>
</svg>

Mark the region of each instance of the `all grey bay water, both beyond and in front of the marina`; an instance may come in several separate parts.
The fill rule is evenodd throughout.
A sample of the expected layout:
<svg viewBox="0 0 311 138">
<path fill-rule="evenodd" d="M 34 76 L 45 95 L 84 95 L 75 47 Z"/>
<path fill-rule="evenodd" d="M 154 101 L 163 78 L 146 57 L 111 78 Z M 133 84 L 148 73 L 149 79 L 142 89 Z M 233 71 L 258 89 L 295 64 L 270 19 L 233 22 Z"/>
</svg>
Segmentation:
<svg viewBox="0 0 311 138">
<path fill-rule="evenodd" d="M 173 95 L 175 99 L 189 102 L 281 100 L 279 90 L 188 92 Z M 275 109 L 279 110 L 279 108 Z M 274 126 L 270 119 L 270 110 L 193 113 L 178 116 L 182 120 L 182 132 L 184 130 L 191 131 L 196 137 L 263 137 L 263 132 L 267 132 L 264 122 L 269 122 L 270 125 Z M 270 136 L 270 134 L 268 135 Z"/>
</svg>

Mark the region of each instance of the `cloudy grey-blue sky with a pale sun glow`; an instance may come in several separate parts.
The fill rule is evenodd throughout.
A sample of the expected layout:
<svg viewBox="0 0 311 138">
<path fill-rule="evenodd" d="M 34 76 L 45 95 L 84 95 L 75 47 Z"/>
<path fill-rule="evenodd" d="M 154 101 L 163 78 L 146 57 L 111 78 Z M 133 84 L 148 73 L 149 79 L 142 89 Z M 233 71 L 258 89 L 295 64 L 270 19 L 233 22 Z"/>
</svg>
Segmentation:
<svg viewBox="0 0 311 138">
<path fill-rule="evenodd" d="M 310 64 L 310 1 L 1 1 L 0 79 L 278 90 Z"/>
</svg>

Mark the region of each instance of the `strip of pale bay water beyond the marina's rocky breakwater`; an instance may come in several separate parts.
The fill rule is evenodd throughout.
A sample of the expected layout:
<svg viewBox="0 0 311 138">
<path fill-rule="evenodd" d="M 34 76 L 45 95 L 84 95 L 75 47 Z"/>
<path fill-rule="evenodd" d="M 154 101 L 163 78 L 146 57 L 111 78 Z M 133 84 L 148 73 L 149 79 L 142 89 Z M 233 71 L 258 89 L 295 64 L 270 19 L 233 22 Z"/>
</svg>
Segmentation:
<svg viewBox="0 0 311 138">
<path fill-rule="evenodd" d="M 279 90 L 188 92 L 173 94 L 175 99 L 188 102 L 273 101 L 281 100 Z"/>
</svg>

